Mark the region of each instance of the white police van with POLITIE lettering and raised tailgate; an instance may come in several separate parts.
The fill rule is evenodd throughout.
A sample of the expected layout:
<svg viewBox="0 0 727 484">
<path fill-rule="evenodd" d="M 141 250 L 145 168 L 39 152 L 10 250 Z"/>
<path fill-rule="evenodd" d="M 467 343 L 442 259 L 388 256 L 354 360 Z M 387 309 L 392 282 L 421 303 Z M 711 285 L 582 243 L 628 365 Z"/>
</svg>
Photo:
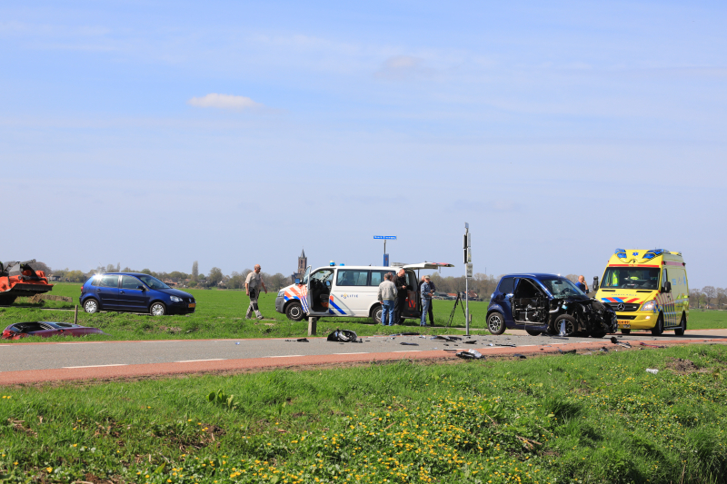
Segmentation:
<svg viewBox="0 0 727 484">
<path fill-rule="evenodd" d="M 421 262 L 393 267 L 345 266 L 344 264 L 319 267 L 312 271 L 308 266 L 303 280 L 295 280 L 278 292 L 275 311 L 284 313 L 288 319 L 301 321 L 314 318 L 372 318 L 381 323 L 381 303 L 378 301 L 379 284 L 387 272 L 403 269 L 409 289 L 402 311 L 405 319 L 422 317 L 422 301 L 419 294 L 418 271 L 454 267 L 440 262 Z M 416 271 L 416 272 L 415 272 Z M 402 291 L 399 289 L 399 291 Z"/>
</svg>

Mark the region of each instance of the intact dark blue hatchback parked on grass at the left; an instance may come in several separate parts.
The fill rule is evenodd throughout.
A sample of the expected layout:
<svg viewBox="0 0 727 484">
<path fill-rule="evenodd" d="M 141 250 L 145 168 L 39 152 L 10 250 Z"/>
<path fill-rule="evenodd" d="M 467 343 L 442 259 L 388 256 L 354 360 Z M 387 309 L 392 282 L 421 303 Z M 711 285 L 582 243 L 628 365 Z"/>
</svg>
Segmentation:
<svg viewBox="0 0 727 484">
<path fill-rule="evenodd" d="M 197 305 L 192 294 L 137 272 L 96 274 L 84 283 L 79 301 L 86 312 L 149 312 L 153 316 L 189 314 Z"/>
</svg>

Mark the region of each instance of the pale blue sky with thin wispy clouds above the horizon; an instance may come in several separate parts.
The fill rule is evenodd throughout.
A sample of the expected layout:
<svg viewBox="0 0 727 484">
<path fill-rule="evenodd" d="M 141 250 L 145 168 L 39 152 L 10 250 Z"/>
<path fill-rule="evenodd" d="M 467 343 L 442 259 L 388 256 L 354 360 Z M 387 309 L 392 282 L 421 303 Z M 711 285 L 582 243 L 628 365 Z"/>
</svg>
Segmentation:
<svg viewBox="0 0 727 484">
<path fill-rule="evenodd" d="M 665 248 L 727 284 L 726 14 L 4 3 L 0 259 L 290 273 L 302 247 L 379 263 L 392 234 L 392 261 L 459 275 L 469 222 L 475 272 L 590 281 L 616 247 Z"/>
</svg>

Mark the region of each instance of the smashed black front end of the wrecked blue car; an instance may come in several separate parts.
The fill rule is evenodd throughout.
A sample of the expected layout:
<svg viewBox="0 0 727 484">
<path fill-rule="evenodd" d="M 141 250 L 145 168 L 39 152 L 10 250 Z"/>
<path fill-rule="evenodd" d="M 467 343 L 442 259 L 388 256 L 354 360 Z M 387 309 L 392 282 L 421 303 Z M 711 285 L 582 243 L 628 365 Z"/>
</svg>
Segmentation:
<svg viewBox="0 0 727 484">
<path fill-rule="evenodd" d="M 563 298 L 550 301 L 548 331 L 571 336 L 586 332 L 593 338 L 603 338 L 616 332 L 616 312 L 595 299 Z"/>
</svg>

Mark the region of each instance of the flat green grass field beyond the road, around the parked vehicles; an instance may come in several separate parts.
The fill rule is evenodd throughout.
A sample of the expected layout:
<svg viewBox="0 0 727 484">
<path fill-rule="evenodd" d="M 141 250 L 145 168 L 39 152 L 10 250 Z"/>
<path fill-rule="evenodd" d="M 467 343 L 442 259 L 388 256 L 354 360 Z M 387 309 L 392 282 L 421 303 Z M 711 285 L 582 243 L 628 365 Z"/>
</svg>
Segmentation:
<svg viewBox="0 0 727 484">
<path fill-rule="evenodd" d="M 307 334 L 307 321 L 293 322 L 274 309 L 275 293 L 262 294 L 260 308 L 266 319 L 271 321 L 245 321 L 244 313 L 248 299 L 244 291 L 188 290 L 197 300 L 197 311 L 188 316 L 164 316 L 153 318 L 121 312 L 85 314 L 79 309 L 79 323 L 95 326 L 110 336 L 89 337 L 92 340 L 148 340 L 148 339 L 203 339 L 203 338 L 287 338 Z M 18 307 L 27 304 L 25 298 L 15 302 L 15 307 L 0 308 L 0 328 L 18 321 L 73 321 L 71 311 L 45 311 L 43 308 L 73 308 L 81 293 L 80 284 L 56 284 L 52 294 L 70 296 L 74 302 L 46 301 L 43 306 Z M 433 301 L 435 328 L 426 329 L 427 334 L 454 332 L 445 328 L 453 309 L 453 301 Z M 473 329 L 485 328 L 487 302 L 470 302 Z M 463 311 L 454 312 L 453 326 L 463 327 Z M 401 331 L 420 331 L 418 321 L 407 320 L 405 326 L 392 328 L 373 324 L 373 321 L 359 318 L 327 318 L 319 321 L 318 334 L 325 335 L 336 328 L 354 330 L 362 336 L 391 334 Z M 692 311 L 689 329 L 727 328 L 727 311 Z M 34 341 L 29 339 L 26 341 Z"/>
</svg>

